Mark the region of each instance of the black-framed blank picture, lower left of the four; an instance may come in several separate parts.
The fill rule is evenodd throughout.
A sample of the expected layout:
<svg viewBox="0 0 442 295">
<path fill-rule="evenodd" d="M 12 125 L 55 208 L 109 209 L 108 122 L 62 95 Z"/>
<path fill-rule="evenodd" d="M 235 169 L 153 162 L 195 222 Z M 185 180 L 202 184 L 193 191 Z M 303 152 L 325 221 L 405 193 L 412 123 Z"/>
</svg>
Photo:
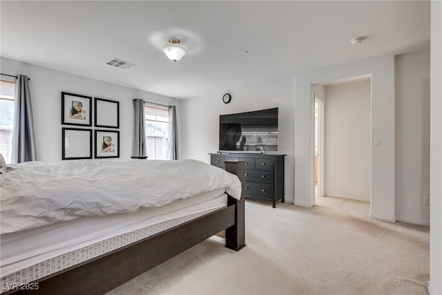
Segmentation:
<svg viewBox="0 0 442 295">
<path fill-rule="evenodd" d="M 92 159 L 92 130 L 62 128 L 61 159 Z"/>
</svg>

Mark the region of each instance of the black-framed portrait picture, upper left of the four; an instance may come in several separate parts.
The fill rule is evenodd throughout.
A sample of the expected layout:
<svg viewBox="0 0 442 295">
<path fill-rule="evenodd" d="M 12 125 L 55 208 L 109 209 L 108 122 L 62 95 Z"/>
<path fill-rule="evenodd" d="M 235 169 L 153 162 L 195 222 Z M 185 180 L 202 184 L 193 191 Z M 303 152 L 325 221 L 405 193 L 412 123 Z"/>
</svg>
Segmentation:
<svg viewBox="0 0 442 295">
<path fill-rule="evenodd" d="M 62 92 L 61 124 L 92 126 L 92 97 Z"/>
</svg>

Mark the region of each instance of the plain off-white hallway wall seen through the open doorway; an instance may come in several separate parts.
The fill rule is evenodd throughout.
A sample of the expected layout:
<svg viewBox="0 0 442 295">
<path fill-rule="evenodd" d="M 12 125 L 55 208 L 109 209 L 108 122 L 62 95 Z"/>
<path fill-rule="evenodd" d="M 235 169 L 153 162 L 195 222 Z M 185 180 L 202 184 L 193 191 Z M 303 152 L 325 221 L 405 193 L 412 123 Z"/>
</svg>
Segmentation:
<svg viewBox="0 0 442 295">
<path fill-rule="evenodd" d="M 325 86 L 325 196 L 370 201 L 370 88 Z"/>
</svg>

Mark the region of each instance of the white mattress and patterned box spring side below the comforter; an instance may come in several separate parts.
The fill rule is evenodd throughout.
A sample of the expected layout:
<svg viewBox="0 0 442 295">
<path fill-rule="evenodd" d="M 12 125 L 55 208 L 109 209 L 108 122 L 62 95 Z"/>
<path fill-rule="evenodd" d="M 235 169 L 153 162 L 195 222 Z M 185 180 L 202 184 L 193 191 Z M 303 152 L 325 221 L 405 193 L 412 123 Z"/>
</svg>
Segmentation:
<svg viewBox="0 0 442 295">
<path fill-rule="evenodd" d="M 157 208 L 84 216 L 1 235 L 1 284 L 43 278 L 227 206 L 225 189 Z M 6 290 L 1 290 L 5 292 Z"/>
</svg>

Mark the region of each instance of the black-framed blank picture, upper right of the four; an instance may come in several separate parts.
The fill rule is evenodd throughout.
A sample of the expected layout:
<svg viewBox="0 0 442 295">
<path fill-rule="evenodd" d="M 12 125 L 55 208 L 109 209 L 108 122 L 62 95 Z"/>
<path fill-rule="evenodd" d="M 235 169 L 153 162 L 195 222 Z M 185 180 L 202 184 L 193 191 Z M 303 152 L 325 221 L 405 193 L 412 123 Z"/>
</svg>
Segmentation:
<svg viewBox="0 0 442 295">
<path fill-rule="evenodd" d="M 95 97 L 95 127 L 119 128 L 119 102 Z"/>
</svg>

